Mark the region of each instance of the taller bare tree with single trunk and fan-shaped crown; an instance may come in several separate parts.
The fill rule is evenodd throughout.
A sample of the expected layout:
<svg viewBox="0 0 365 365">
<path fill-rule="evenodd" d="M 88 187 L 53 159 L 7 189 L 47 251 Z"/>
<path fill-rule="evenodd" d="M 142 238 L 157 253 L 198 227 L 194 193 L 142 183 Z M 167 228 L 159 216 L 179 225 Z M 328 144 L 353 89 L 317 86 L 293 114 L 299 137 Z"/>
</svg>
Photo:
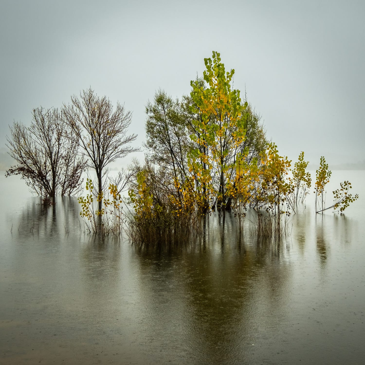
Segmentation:
<svg viewBox="0 0 365 365">
<path fill-rule="evenodd" d="M 127 135 L 132 113 L 119 103 L 113 111 L 106 96 L 99 97 L 89 88 L 73 95 L 71 104 L 64 104 L 64 115 L 78 137 L 78 143 L 88 158 L 88 167 L 95 169 L 98 191 L 103 189 L 103 169 L 117 158 L 139 151 L 130 146 L 137 135 Z"/>
</svg>

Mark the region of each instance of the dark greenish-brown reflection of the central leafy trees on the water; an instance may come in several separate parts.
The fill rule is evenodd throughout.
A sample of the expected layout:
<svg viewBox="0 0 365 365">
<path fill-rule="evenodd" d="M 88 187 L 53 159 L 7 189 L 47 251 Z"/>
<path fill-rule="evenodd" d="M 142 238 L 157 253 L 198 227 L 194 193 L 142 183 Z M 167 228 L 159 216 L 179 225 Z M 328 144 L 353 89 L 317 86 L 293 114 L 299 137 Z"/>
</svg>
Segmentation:
<svg viewBox="0 0 365 365">
<path fill-rule="evenodd" d="M 228 361 L 249 349 L 252 336 L 265 332 L 257 315 L 281 317 L 289 278 L 281 260 L 284 245 L 239 241 L 231 218 L 226 213 L 225 220 L 211 219 L 211 226 L 222 231 L 208 248 L 197 242 L 178 254 L 136 251 L 150 338 L 174 339 L 164 346 L 175 350 L 179 342 L 189 343 L 187 355 L 207 363 Z"/>
</svg>

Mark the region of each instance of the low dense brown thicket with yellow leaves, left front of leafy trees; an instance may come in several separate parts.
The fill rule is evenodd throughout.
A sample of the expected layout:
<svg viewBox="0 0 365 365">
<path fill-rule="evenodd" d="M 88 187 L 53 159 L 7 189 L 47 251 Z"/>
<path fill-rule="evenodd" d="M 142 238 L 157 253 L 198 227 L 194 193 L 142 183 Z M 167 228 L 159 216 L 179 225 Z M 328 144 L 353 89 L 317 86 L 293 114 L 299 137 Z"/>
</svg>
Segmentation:
<svg viewBox="0 0 365 365">
<path fill-rule="evenodd" d="M 128 235 L 134 242 L 185 242 L 194 228 L 195 192 L 193 181 L 171 187 L 164 169 L 155 170 L 149 161 L 135 166 L 136 182 L 128 191 L 134 212 L 130 215 Z"/>
</svg>

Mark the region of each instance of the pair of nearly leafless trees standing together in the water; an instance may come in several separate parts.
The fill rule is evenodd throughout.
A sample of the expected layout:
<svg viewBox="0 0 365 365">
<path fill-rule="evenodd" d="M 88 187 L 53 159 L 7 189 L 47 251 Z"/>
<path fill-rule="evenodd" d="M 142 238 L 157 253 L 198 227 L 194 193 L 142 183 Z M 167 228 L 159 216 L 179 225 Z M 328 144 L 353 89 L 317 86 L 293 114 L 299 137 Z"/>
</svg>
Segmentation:
<svg viewBox="0 0 365 365">
<path fill-rule="evenodd" d="M 138 149 L 127 135 L 131 112 L 116 107 L 90 88 L 73 95 L 69 105 L 33 110 L 29 127 L 14 122 L 7 137 L 9 154 L 17 165 L 6 176 L 20 174 L 38 195 L 74 195 L 82 189 L 85 169 L 95 170 L 98 192 L 103 190 L 105 166 Z"/>
</svg>

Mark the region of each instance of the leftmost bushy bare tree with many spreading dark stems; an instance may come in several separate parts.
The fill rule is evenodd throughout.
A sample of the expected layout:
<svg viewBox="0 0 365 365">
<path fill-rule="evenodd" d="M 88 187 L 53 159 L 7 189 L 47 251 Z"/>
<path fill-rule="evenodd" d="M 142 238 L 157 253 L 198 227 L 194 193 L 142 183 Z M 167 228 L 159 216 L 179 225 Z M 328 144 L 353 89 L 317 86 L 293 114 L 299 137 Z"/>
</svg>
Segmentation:
<svg viewBox="0 0 365 365">
<path fill-rule="evenodd" d="M 33 110 L 30 127 L 14 122 L 7 137 L 9 154 L 18 162 L 6 176 L 22 175 L 38 195 L 71 195 L 81 189 L 85 162 L 78 157 L 73 131 L 57 109 Z"/>
</svg>

